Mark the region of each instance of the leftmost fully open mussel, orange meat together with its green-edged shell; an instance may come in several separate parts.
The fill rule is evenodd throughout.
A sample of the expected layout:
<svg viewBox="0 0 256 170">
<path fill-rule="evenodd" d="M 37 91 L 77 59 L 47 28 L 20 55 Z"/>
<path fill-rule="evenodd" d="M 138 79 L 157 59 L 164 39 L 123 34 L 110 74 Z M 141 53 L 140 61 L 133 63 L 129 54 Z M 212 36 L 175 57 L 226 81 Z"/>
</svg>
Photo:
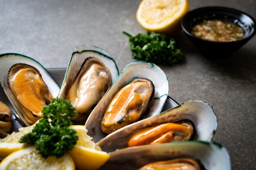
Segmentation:
<svg viewBox="0 0 256 170">
<path fill-rule="evenodd" d="M 30 126 L 38 120 L 43 106 L 60 91 L 51 74 L 35 59 L 22 54 L 0 55 L 0 84 L 21 123 Z"/>
</svg>

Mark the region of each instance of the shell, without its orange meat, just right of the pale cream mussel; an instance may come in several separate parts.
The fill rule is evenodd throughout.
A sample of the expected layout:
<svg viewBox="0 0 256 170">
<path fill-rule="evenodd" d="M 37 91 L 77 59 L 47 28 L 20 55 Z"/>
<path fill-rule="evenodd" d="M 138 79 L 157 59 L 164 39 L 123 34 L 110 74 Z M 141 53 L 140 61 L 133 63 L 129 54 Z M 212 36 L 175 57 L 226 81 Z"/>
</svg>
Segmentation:
<svg viewBox="0 0 256 170">
<path fill-rule="evenodd" d="M 153 63 L 133 61 L 126 65 L 115 83 L 110 87 L 110 89 L 108 89 L 108 92 L 94 108 L 85 123 L 85 126 L 88 129 L 88 135 L 93 137 L 92 140 L 94 142 L 98 142 L 107 136 L 107 134 L 103 133 L 101 130 L 101 120 L 111 100 L 119 90 L 122 89 L 122 87 L 137 78 L 147 78 L 152 81 L 155 88 L 153 100 L 148 105 L 144 116 L 140 119 L 149 118 L 158 115 L 161 112 L 168 96 L 168 80 L 166 74 L 164 74 L 164 72 Z"/>
</svg>

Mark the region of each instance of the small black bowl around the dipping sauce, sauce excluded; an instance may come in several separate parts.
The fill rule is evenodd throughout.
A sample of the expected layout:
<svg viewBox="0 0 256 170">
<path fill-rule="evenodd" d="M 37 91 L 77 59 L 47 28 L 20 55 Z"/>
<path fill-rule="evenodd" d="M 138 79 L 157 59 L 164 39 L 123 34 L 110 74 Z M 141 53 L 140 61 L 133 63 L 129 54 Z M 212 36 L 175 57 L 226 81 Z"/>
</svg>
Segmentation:
<svg viewBox="0 0 256 170">
<path fill-rule="evenodd" d="M 243 28 L 243 38 L 231 42 L 217 42 L 195 37 L 191 33 L 193 26 L 204 20 L 233 22 Z M 230 57 L 234 51 L 246 44 L 256 33 L 256 21 L 253 17 L 242 11 L 227 7 L 203 7 L 189 11 L 182 18 L 181 26 L 202 55 L 211 59 L 226 59 Z"/>
</svg>

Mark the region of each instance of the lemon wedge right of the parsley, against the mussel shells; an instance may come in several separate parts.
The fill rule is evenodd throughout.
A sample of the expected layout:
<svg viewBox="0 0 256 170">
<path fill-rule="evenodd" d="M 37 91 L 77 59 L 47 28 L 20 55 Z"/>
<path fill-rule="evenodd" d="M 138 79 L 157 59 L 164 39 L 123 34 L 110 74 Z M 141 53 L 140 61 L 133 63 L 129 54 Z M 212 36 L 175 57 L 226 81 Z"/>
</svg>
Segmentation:
<svg viewBox="0 0 256 170">
<path fill-rule="evenodd" d="M 101 148 L 95 144 L 92 137 L 87 135 L 85 126 L 73 125 L 79 137 L 77 144 L 68 153 L 73 158 L 76 169 L 78 170 L 96 170 L 101 167 L 110 157 L 106 152 L 101 151 Z"/>
</svg>

